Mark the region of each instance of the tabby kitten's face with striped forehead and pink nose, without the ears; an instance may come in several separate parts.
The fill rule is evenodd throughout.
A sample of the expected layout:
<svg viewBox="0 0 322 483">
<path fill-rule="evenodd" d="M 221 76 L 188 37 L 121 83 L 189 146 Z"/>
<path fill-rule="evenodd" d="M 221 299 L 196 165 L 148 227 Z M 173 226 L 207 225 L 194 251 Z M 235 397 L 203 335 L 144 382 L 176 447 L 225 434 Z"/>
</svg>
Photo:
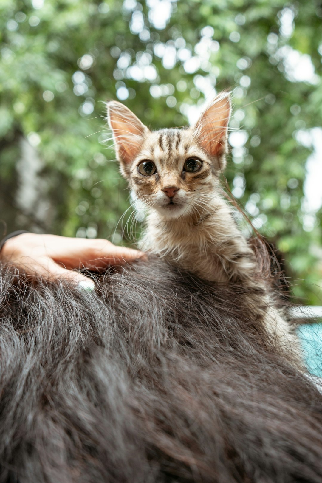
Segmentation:
<svg viewBox="0 0 322 483">
<path fill-rule="evenodd" d="M 190 215 L 214 185 L 210 157 L 191 129 L 151 132 L 128 167 L 136 198 L 168 219 Z"/>
</svg>

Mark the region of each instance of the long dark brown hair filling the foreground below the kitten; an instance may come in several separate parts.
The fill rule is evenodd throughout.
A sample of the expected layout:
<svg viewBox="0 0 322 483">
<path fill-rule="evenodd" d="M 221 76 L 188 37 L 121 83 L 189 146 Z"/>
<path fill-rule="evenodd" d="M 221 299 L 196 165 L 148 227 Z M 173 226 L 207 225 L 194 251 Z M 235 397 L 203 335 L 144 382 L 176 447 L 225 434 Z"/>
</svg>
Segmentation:
<svg viewBox="0 0 322 483">
<path fill-rule="evenodd" d="M 322 482 L 322 396 L 242 286 L 0 270 L 0 483 Z"/>
</svg>

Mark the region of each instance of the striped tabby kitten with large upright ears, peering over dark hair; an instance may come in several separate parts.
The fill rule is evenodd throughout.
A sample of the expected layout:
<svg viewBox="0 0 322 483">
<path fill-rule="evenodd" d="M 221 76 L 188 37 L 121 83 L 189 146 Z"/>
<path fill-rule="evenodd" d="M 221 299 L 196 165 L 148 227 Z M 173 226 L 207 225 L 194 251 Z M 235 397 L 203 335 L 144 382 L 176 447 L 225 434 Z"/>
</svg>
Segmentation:
<svg viewBox="0 0 322 483">
<path fill-rule="evenodd" d="M 219 94 L 189 128 L 150 131 L 123 104 L 107 104 L 116 156 L 134 198 L 148 210 L 140 248 L 210 282 L 248 290 L 268 332 L 298 352 L 274 293 L 239 231 L 219 176 L 226 165 L 229 94 Z"/>
</svg>

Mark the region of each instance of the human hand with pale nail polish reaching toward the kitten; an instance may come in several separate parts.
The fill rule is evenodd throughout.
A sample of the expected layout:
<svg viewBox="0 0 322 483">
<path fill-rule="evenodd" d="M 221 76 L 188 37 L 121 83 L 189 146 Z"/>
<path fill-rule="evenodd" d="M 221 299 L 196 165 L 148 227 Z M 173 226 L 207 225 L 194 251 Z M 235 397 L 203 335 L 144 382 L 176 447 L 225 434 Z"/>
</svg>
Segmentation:
<svg viewBox="0 0 322 483">
<path fill-rule="evenodd" d="M 103 239 L 36 233 L 9 238 L 0 251 L 0 259 L 11 261 L 31 277 L 63 278 L 86 289 L 93 289 L 95 283 L 73 269 L 103 270 L 109 265 L 131 262 L 142 256 L 144 254 L 138 250 L 116 246 Z"/>
</svg>

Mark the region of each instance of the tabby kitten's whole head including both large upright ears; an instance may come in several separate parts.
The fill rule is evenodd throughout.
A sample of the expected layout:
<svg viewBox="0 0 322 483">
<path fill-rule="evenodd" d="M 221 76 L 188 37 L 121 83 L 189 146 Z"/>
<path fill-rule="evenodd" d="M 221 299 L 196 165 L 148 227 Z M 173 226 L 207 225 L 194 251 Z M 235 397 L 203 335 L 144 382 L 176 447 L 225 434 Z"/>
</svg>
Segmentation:
<svg viewBox="0 0 322 483">
<path fill-rule="evenodd" d="M 169 220 L 204 209 L 224 167 L 228 96 L 215 99 L 186 129 L 151 132 L 122 104 L 112 101 L 108 108 L 121 171 L 135 198 Z"/>
</svg>

